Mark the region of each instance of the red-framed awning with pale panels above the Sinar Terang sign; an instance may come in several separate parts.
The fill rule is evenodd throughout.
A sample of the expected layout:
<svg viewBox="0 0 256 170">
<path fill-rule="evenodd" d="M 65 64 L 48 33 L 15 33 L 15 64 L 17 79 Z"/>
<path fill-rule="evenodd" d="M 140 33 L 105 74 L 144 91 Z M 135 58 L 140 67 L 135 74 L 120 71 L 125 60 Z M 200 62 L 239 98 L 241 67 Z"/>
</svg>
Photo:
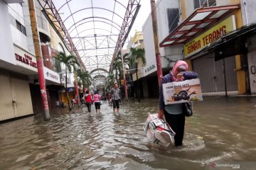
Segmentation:
<svg viewBox="0 0 256 170">
<path fill-rule="evenodd" d="M 160 43 L 160 47 L 180 45 L 188 42 L 188 40 L 191 40 L 191 38 L 207 30 L 222 18 L 233 13 L 237 8 L 240 8 L 240 6 L 232 5 L 197 8 L 191 16 L 186 18 L 181 25 L 174 29 Z"/>
</svg>

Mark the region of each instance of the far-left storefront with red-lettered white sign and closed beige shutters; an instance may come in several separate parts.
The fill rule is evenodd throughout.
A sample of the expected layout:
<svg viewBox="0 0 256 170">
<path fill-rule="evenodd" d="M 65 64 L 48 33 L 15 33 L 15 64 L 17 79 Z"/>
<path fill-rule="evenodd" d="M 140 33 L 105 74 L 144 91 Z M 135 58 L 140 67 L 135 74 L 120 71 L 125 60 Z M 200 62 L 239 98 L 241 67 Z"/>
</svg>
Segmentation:
<svg viewBox="0 0 256 170">
<path fill-rule="evenodd" d="M 18 45 L 12 57 L 16 66 L 0 71 L 0 120 L 33 114 L 28 75 L 36 74 L 36 57 Z"/>
</svg>

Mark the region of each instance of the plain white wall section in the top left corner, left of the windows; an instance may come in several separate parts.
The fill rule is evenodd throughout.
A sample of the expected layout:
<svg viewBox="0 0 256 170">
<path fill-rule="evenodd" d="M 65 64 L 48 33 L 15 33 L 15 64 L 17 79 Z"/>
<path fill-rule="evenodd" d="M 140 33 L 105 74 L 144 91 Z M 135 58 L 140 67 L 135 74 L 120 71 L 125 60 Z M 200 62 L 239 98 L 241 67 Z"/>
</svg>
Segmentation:
<svg viewBox="0 0 256 170">
<path fill-rule="evenodd" d="M 11 38 L 11 26 L 9 21 L 8 6 L 0 0 L 0 60 L 16 64 L 14 57 L 14 45 Z M 1 66 L 1 64 L 0 64 Z"/>
</svg>

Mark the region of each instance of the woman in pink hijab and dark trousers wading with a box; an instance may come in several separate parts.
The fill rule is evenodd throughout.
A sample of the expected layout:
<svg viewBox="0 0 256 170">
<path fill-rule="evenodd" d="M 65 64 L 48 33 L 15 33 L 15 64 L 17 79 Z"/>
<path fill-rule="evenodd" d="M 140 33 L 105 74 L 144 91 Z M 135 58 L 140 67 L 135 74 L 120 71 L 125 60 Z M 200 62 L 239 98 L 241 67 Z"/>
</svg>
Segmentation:
<svg viewBox="0 0 256 170">
<path fill-rule="evenodd" d="M 171 129 L 176 132 L 174 136 L 175 146 L 181 147 L 184 135 L 185 115 L 183 114 L 182 103 L 164 105 L 164 94 L 162 84 L 173 81 L 183 81 L 188 79 L 196 79 L 198 75 L 195 72 L 188 72 L 188 64 L 182 60 L 178 60 L 169 74 L 161 79 L 159 91 L 159 118 L 166 118 L 166 122 Z"/>
</svg>

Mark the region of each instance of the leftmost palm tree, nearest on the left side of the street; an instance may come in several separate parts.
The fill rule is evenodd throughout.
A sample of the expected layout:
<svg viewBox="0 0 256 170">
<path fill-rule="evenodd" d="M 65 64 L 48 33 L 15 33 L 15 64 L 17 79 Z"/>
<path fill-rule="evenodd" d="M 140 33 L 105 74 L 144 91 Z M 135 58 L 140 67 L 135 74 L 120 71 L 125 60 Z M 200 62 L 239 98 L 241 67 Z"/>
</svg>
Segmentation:
<svg viewBox="0 0 256 170">
<path fill-rule="evenodd" d="M 75 70 L 76 65 L 80 66 L 78 59 L 75 55 L 65 55 L 65 52 L 58 52 L 55 57 L 58 61 L 65 64 L 65 89 L 68 98 L 68 108 L 71 111 L 69 96 L 68 96 L 68 71 L 71 72 L 72 68 Z"/>
</svg>

